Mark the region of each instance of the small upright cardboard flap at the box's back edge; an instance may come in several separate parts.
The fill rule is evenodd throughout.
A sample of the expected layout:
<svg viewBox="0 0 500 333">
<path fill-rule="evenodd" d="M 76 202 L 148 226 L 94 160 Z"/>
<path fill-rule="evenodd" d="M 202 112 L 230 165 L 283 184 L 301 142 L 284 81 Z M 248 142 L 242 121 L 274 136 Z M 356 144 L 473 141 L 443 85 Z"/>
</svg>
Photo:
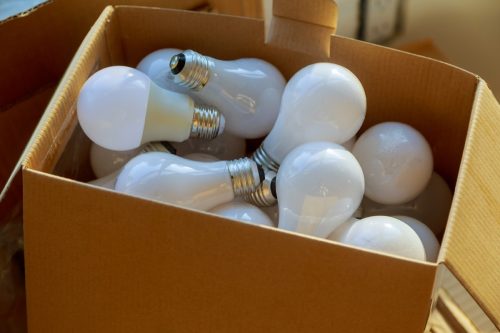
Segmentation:
<svg viewBox="0 0 500 333">
<path fill-rule="evenodd" d="M 274 0 L 266 43 L 328 57 L 330 36 L 336 26 L 337 5 L 333 0 Z"/>
</svg>

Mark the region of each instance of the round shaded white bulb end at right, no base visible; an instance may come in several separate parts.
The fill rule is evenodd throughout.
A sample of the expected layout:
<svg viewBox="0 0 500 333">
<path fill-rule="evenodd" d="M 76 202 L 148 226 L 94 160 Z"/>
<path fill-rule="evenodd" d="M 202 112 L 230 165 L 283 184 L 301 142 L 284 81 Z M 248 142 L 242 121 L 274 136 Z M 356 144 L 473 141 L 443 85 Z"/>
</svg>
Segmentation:
<svg viewBox="0 0 500 333">
<path fill-rule="evenodd" d="M 365 195 L 383 204 L 415 199 L 432 175 L 432 151 L 425 138 L 406 124 L 386 122 L 364 132 L 353 154 L 365 174 Z"/>
</svg>

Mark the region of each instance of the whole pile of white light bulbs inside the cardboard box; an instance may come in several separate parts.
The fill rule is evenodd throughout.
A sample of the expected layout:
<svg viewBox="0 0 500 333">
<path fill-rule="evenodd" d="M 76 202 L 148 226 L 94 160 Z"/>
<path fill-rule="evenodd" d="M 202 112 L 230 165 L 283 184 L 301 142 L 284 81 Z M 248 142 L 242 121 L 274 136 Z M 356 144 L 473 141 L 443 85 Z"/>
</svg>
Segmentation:
<svg viewBox="0 0 500 333">
<path fill-rule="evenodd" d="M 260 59 L 162 49 L 137 69 L 114 66 L 92 75 L 77 111 L 95 142 L 94 185 L 437 259 L 435 234 L 446 222 L 451 192 L 433 173 L 429 144 L 396 122 L 356 140 L 366 97 L 345 67 L 312 64 L 286 82 Z M 245 140 L 261 137 L 246 157 Z"/>
</svg>

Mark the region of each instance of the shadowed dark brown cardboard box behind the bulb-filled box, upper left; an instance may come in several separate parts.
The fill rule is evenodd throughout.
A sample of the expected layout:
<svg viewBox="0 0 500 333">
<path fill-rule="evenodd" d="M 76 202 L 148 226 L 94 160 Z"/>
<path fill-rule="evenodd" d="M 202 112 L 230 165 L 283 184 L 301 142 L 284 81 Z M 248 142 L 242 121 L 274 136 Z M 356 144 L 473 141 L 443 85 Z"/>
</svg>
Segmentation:
<svg viewBox="0 0 500 333">
<path fill-rule="evenodd" d="M 104 7 L 114 4 L 247 16 L 262 11 L 258 0 L 53 0 L 0 20 L 0 225 L 19 206 L 15 175 L 24 147 L 81 41 Z"/>
</svg>

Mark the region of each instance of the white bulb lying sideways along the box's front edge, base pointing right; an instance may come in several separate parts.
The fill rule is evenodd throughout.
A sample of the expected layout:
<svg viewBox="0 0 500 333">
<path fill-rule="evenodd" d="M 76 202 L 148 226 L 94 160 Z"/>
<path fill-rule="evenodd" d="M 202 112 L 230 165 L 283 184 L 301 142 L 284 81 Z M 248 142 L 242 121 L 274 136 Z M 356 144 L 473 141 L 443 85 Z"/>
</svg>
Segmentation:
<svg viewBox="0 0 500 333">
<path fill-rule="evenodd" d="M 253 191 L 263 171 L 248 158 L 219 162 L 191 161 L 151 152 L 130 160 L 115 189 L 183 207 L 209 210 Z"/>
</svg>

